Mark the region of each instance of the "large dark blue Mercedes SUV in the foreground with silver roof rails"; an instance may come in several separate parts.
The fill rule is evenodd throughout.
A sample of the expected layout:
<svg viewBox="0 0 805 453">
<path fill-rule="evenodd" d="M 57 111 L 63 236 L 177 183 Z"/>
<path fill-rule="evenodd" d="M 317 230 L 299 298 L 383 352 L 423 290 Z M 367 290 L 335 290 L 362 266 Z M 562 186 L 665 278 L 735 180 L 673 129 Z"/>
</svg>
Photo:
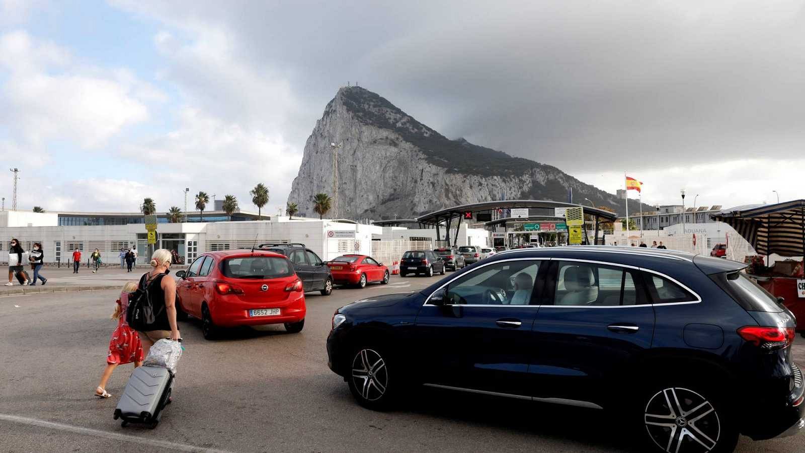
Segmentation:
<svg viewBox="0 0 805 453">
<path fill-rule="evenodd" d="M 328 365 L 372 409 L 426 385 L 608 409 L 643 451 L 733 451 L 738 434 L 805 426 L 795 318 L 743 268 L 638 247 L 504 251 L 341 307 Z"/>
</svg>

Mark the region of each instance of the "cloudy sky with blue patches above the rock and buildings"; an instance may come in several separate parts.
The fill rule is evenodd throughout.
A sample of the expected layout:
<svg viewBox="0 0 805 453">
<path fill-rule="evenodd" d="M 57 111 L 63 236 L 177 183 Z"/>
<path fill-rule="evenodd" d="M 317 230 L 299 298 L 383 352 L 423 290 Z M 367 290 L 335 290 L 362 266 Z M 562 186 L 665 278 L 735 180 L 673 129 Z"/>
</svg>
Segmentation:
<svg viewBox="0 0 805 453">
<path fill-rule="evenodd" d="M 0 157 L 21 210 L 184 209 L 184 188 L 256 210 L 262 182 L 275 213 L 357 83 L 608 192 L 626 173 L 646 203 L 785 201 L 803 38 L 802 1 L 0 0 Z"/>
</svg>

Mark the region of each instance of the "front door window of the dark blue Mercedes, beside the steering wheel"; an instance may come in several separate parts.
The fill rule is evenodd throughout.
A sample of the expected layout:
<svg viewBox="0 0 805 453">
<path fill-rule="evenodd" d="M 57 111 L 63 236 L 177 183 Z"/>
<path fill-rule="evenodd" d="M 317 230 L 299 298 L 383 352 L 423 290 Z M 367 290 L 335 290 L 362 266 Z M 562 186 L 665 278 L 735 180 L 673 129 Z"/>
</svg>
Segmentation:
<svg viewBox="0 0 805 453">
<path fill-rule="evenodd" d="M 529 305 L 541 260 L 502 261 L 452 281 L 445 301 L 451 305 Z"/>
</svg>

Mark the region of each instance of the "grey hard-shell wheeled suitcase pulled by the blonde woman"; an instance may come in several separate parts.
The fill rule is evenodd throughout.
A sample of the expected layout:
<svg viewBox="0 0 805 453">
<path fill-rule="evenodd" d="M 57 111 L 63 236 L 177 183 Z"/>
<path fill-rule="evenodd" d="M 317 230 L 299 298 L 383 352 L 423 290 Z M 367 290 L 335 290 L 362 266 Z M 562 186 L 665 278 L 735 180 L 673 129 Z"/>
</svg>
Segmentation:
<svg viewBox="0 0 805 453">
<path fill-rule="evenodd" d="M 121 418 L 121 426 L 145 423 L 154 429 L 162 418 L 162 409 L 171 404 L 172 388 L 173 375 L 166 368 L 134 368 L 114 409 L 114 419 Z"/>
</svg>

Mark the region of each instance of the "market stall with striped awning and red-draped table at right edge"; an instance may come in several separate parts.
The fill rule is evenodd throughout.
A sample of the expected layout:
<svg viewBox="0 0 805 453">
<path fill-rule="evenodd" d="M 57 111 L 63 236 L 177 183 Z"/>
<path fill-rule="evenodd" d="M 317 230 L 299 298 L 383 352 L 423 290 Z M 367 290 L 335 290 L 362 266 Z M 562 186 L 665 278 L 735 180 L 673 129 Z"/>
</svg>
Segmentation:
<svg viewBox="0 0 805 453">
<path fill-rule="evenodd" d="M 791 310 L 805 330 L 805 200 L 774 205 L 739 206 L 713 214 L 749 242 L 758 256 L 747 256 L 747 272 Z M 778 260 L 771 265 L 770 256 Z"/>
</svg>

